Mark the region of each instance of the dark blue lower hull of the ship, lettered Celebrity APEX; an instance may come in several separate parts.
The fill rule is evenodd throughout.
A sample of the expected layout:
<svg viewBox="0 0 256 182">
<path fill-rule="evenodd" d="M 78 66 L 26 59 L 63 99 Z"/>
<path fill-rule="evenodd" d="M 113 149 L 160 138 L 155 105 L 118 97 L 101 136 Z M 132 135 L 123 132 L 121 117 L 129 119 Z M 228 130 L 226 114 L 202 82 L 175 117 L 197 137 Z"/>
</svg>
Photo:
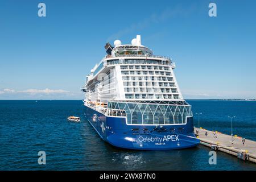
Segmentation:
<svg viewBox="0 0 256 182">
<path fill-rule="evenodd" d="M 115 147 L 132 150 L 174 150 L 197 146 L 193 117 L 185 125 L 127 125 L 124 117 L 110 117 L 84 106 L 84 115 L 98 135 Z"/>
</svg>

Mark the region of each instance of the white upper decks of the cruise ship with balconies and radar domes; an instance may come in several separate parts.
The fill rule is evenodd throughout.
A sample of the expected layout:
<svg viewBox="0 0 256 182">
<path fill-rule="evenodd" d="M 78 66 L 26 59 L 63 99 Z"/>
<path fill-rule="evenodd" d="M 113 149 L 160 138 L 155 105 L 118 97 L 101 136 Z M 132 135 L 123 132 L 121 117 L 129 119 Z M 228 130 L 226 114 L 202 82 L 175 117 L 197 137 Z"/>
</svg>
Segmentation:
<svg viewBox="0 0 256 182">
<path fill-rule="evenodd" d="M 183 100 L 169 57 L 155 56 L 137 35 L 131 44 L 115 40 L 106 44 L 108 55 L 86 77 L 86 100 L 179 101 Z"/>
</svg>

